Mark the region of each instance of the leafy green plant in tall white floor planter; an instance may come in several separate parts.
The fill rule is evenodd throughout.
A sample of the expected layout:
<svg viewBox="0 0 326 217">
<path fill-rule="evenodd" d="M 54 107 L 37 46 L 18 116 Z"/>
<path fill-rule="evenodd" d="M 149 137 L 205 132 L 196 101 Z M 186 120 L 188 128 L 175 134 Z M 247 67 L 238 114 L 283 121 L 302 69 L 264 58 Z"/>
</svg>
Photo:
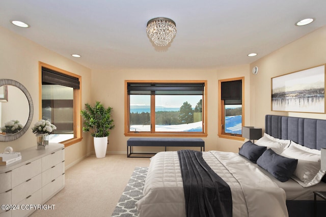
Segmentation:
<svg viewBox="0 0 326 217">
<path fill-rule="evenodd" d="M 94 106 L 85 104 L 85 109 L 80 111 L 84 118 L 84 132 L 92 130 L 96 158 L 104 158 L 107 148 L 107 137 L 114 126 L 111 118 L 112 107 L 104 108 L 103 104 L 96 102 Z"/>
</svg>

